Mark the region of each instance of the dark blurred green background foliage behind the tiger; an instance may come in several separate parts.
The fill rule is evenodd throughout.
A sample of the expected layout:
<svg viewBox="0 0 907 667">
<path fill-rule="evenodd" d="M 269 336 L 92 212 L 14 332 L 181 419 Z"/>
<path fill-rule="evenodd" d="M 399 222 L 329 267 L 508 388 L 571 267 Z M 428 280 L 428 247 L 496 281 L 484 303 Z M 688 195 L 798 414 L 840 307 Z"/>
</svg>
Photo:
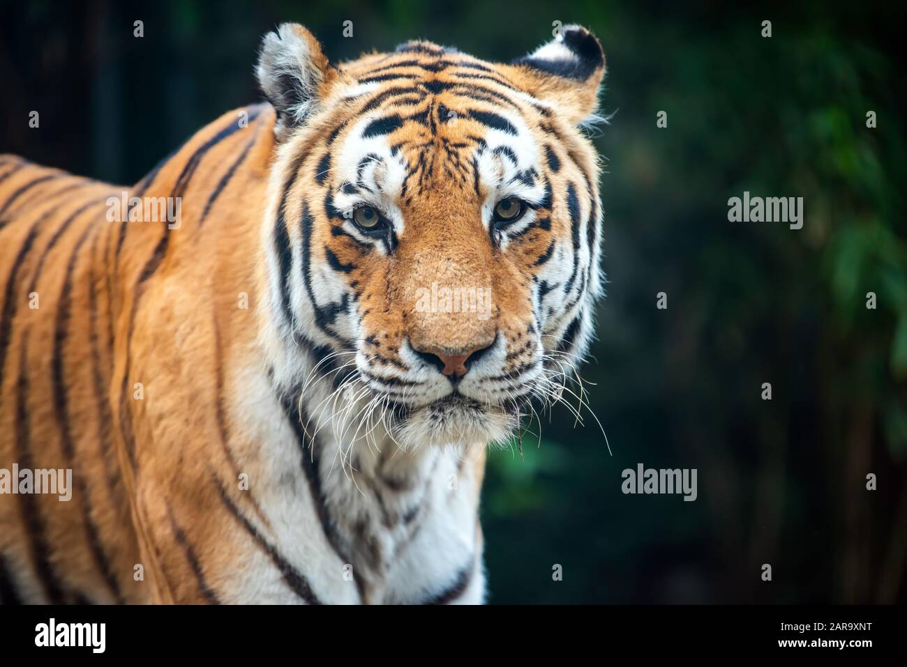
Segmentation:
<svg viewBox="0 0 907 667">
<path fill-rule="evenodd" d="M 522 459 L 515 442 L 493 452 L 489 601 L 904 602 L 904 13 L 710 5 L 0 0 L 0 152 L 135 182 L 260 99 L 258 41 L 283 21 L 335 62 L 414 37 L 509 61 L 554 21 L 584 24 L 613 115 L 595 136 L 608 297 L 582 374 L 613 456 L 588 411 L 574 426 L 562 408 L 541 442 L 529 426 Z M 803 197 L 803 229 L 728 222 L 744 190 Z M 622 494 L 640 462 L 697 469 L 697 500 Z"/>
</svg>

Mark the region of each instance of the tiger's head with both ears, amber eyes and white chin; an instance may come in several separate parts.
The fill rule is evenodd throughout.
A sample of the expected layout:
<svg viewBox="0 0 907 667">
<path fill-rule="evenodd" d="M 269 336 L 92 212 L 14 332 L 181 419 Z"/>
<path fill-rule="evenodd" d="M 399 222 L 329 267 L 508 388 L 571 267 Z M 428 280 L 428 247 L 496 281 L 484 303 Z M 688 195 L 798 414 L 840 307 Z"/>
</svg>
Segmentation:
<svg viewBox="0 0 907 667">
<path fill-rule="evenodd" d="M 601 292 L 580 126 L 604 71 L 578 26 L 511 64 L 410 42 L 333 66 L 299 25 L 268 34 L 266 320 L 286 374 L 378 411 L 405 448 L 504 440 L 532 397 L 560 398 Z"/>
</svg>

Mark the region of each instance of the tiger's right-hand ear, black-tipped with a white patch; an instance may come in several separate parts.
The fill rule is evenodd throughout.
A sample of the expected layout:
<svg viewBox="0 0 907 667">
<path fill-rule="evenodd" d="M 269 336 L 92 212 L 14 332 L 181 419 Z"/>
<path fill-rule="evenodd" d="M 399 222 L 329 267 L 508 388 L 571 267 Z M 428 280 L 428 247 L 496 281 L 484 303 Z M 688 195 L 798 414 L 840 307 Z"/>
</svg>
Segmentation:
<svg viewBox="0 0 907 667">
<path fill-rule="evenodd" d="M 574 124 L 599 106 L 605 53 L 599 40 L 580 25 L 564 25 L 551 42 L 511 63 L 528 92 L 563 111 Z"/>
</svg>

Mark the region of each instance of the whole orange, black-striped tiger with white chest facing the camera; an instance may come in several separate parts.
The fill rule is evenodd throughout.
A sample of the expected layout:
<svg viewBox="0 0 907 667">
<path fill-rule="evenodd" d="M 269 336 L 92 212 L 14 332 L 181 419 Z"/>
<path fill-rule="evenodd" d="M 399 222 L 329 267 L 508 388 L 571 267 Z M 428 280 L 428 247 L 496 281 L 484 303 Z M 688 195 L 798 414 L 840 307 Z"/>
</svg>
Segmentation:
<svg viewBox="0 0 907 667">
<path fill-rule="evenodd" d="M 0 156 L 0 599 L 487 602 L 486 452 L 603 294 L 604 73 L 578 25 L 335 64 L 279 24 L 134 186 Z"/>
</svg>

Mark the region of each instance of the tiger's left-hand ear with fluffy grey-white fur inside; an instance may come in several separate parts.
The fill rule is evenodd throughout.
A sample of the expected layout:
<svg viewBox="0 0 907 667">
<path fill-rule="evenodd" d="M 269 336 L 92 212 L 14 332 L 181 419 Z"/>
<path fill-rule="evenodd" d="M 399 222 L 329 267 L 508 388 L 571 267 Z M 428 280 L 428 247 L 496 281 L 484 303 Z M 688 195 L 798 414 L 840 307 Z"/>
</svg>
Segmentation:
<svg viewBox="0 0 907 667">
<path fill-rule="evenodd" d="M 265 35 L 255 73 L 261 92 L 278 112 L 274 134 L 279 141 L 317 110 L 337 75 L 315 35 L 299 24 L 280 24 Z"/>
</svg>

